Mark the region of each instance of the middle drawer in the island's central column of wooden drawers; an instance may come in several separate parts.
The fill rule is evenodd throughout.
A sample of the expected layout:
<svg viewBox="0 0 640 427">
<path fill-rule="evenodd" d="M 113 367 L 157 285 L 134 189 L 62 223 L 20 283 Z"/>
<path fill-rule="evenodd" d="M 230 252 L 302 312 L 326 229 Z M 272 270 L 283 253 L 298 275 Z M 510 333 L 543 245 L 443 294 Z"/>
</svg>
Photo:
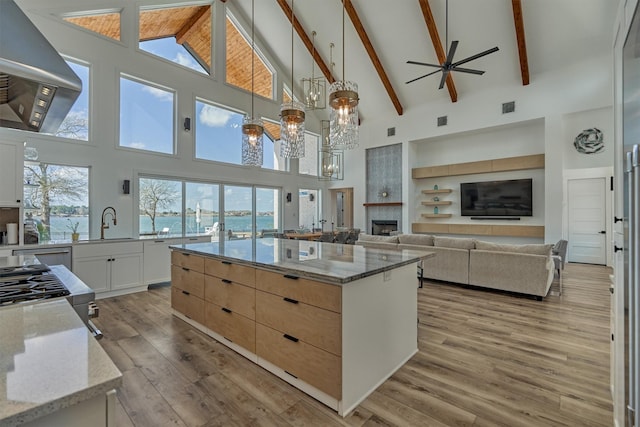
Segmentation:
<svg viewBox="0 0 640 427">
<path fill-rule="evenodd" d="M 256 290 L 231 280 L 204 276 L 204 299 L 249 319 L 256 318 Z"/>
</svg>

